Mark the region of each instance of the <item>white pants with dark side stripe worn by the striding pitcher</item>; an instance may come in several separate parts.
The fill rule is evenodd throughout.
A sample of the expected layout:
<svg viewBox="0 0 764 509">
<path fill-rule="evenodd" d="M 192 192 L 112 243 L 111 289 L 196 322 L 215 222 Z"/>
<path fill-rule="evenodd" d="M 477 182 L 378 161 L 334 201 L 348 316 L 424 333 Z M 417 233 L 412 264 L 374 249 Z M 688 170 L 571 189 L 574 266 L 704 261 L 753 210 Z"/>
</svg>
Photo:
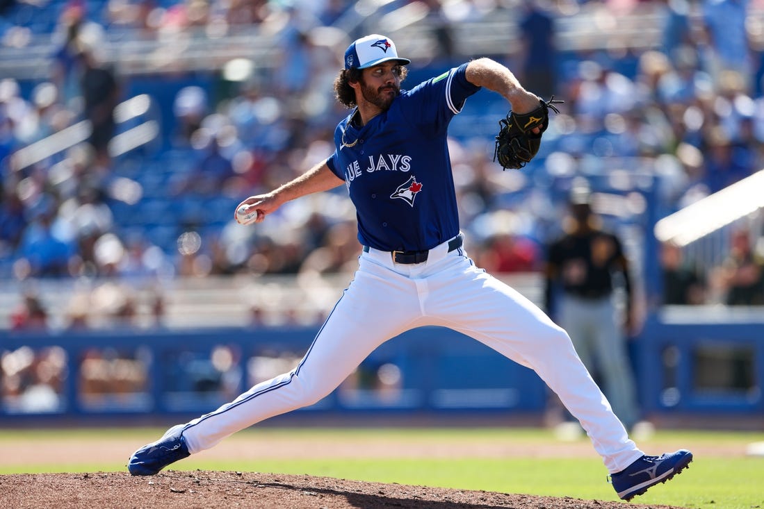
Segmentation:
<svg viewBox="0 0 764 509">
<path fill-rule="evenodd" d="M 293 371 L 254 385 L 235 401 L 190 421 L 189 452 L 261 420 L 329 395 L 377 346 L 414 327 L 438 325 L 485 343 L 534 369 L 581 422 L 610 473 L 643 456 L 578 359 L 568 334 L 513 288 L 476 268 L 447 243 L 425 263 L 399 265 L 371 250 Z"/>
</svg>

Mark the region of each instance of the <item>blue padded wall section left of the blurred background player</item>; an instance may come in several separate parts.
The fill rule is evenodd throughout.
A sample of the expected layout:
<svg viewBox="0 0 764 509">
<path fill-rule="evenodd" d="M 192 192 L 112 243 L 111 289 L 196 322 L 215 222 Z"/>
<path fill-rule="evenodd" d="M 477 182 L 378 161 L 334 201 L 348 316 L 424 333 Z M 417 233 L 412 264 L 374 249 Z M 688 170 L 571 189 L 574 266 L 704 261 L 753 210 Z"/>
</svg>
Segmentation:
<svg viewBox="0 0 764 509">
<path fill-rule="evenodd" d="M 2 420 L 41 415 L 199 414 L 296 367 L 315 328 L 0 335 L 2 350 L 66 359 L 54 390 L 4 395 Z M 27 354 L 29 355 L 29 353 Z M 34 375 L 33 375 L 34 376 Z M 536 374 L 439 327 L 393 338 L 306 412 L 539 412 Z"/>
</svg>

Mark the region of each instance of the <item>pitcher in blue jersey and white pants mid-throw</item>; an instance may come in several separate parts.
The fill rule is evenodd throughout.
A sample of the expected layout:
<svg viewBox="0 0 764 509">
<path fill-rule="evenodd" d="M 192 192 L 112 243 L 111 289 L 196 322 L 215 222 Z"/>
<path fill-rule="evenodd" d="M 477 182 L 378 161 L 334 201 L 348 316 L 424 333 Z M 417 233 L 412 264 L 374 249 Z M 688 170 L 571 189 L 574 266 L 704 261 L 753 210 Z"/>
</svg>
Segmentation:
<svg viewBox="0 0 764 509">
<path fill-rule="evenodd" d="M 154 475 L 238 430 L 316 403 L 377 346 L 432 325 L 465 333 L 534 369 L 581 422 L 620 498 L 641 495 L 691 462 L 685 449 L 646 456 L 613 414 L 565 330 L 476 267 L 465 252 L 448 156 L 449 122 L 481 89 L 499 93 L 513 111 L 502 124 L 513 134 L 497 140 L 500 164 L 521 168 L 538 150 L 552 101 L 527 92 L 509 69 L 487 58 L 403 90 L 409 63 L 384 35 L 351 43 L 334 85 L 338 101 L 351 108 L 335 129 L 335 152 L 274 191 L 247 198 L 235 213 L 241 224 L 257 224 L 287 201 L 339 185 L 356 208 L 364 246 L 358 270 L 299 365 L 171 427 L 134 453 L 131 474 Z M 521 123 L 517 129 L 507 126 L 515 122 Z"/>
</svg>

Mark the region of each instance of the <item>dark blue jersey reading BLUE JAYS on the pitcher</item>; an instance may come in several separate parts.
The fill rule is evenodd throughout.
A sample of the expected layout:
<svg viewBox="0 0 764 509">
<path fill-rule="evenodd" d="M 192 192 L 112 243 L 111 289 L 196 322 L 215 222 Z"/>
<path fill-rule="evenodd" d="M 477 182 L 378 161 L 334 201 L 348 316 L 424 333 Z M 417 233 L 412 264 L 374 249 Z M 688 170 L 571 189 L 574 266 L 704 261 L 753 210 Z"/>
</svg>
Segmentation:
<svg viewBox="0 0 764 509">
<path fill-rule="evenodd" d="M 348 186 L 364 246 L 429 250 L 459 233 L 446 131 L 480 89 L 465 69 L 466 63 L 401 91 L 364 127 L 351 124 L 350 114 L 335 129 L 337 150 L 326 163 Z"/>
</svg>

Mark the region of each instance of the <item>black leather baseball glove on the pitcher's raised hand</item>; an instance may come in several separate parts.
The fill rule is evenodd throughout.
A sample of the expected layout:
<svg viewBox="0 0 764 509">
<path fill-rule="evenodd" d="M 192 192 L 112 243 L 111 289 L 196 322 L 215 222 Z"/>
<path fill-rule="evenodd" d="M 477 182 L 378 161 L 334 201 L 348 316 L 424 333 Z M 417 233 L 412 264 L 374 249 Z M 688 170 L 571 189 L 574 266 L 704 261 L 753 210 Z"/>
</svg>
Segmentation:
<svg viewBox="0 0 764 509">
<path fill-rule="evenodd" d="M 496 137 L 494 161 L 499 160 L 503 169 L 520 169 L 526 166 L 541 146 L 541 136 L 549 127 L 549 110 L 560 111 L 555 105 L 565 101 L 555 101 L 555 96 L 549 101 L 539 98 L 539 108 L 528 113 L 516 114 L 510 111 L 507 118 L 499 121 L 499 134 Z M 534 133 L 533 129 L 539 128 Z"/>
</svg>

